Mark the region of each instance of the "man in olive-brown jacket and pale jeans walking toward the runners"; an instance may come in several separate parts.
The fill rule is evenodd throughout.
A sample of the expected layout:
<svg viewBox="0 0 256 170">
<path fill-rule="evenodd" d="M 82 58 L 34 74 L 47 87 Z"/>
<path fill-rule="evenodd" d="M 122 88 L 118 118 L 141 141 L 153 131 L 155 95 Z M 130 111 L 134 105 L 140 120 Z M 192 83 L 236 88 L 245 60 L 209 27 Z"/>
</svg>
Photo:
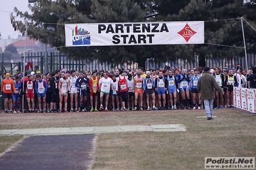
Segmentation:
<svg viewBox="0 0 256 170">
<path fill-rule="evenodd" d="M 214 88 L 222 93 L 221 95 L 224 95 L 224 92 L 219 84 L 216 82 L 215 77 L 210 74 L 209 70 L 209 67 L 204 68 L 204 73 L 198 80 L 197 89 L 200 93 L 200 98 L 203 100 L 203 102 L 205 102 L 205 112 L 207 115 L 207 120 L 212 120 L 212 105 L 215 98 Z"/>
</svg>

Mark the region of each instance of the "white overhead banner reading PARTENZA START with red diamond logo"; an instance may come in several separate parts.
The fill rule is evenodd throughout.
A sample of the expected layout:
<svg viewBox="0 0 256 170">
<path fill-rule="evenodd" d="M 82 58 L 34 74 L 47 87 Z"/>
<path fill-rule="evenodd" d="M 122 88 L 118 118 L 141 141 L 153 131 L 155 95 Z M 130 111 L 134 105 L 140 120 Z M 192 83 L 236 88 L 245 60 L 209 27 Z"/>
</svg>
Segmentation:
<svg viewBox="0 0 256 170">
<path fill-rule="evenodd" d="M 65 24 L 65 46 L 204 43 L 203 21 Z"/>
</svg>

